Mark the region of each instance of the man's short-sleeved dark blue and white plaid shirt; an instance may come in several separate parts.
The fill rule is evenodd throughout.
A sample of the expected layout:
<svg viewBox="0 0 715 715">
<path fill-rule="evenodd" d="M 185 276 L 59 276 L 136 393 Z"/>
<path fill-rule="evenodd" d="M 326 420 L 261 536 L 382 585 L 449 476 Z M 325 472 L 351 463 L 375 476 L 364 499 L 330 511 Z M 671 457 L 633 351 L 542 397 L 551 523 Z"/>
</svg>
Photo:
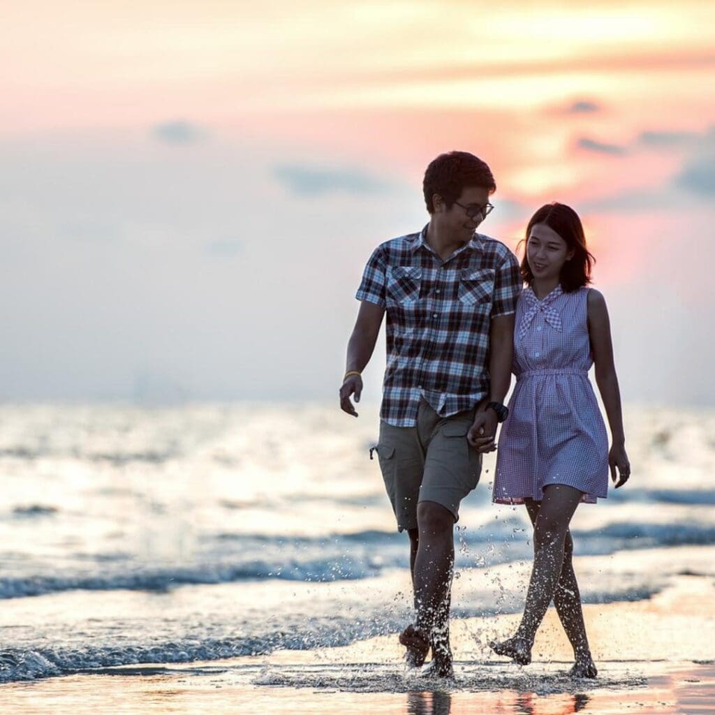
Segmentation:
<svg viewBox="0 0 715 715">
<path fill-rule="evenodd" d="M 420 398 L 442 417 L 489 391 L 490 319 L 516 310 L 521 275 L 503 243 L 475 233 L 443 261 L 420 233 L 378 246 L 355 297 L 387 312 L 387 367 L 380 418 L 417 424 Z"/>
</svg>

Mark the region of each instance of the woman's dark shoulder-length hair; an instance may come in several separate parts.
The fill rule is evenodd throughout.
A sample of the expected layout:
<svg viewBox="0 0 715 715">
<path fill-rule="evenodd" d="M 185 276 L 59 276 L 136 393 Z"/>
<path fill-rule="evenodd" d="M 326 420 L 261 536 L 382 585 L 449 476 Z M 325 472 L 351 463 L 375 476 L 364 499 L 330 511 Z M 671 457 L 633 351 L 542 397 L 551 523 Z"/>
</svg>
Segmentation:
<svg viewBox="0 0 715 715">
<path fill-rule="evenodd" d="M 583 233 L 583 225 L 578 214 L 566 204 L 546 204 L 538 209 L 531 217 L 526 227 L 526 235 L 519 242 L 524 245 L 524 257 L 521 261 L 521 277 L 528 285 L 533 283 L 534 277 L 526 260 L 526 243 L 531 234 L 531 228 L 536 224 L 544 224 L 551 230 L 556 231 L 566 242 L 568 250 L 573 249 L 573 257 L 566 261 L 561 268 L 561 288 L 563 292 L 570 293 L 578 288 L 588 285 L 591 282 L 591 267 L 596 263 L 596 259 L 586 247 L 586 235 Z"/>
</svg>

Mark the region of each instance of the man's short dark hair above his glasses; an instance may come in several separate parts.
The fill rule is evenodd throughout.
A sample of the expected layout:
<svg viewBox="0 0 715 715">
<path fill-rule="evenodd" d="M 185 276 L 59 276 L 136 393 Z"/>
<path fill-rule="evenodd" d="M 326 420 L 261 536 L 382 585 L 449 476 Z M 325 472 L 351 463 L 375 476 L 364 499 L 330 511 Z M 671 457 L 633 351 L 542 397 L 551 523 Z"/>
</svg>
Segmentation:
<svg viewBox="0 0 715 715">
<path fill-rule="evenodd" d="M 440 194 L 447 208 L 460 197 L 466 187 L 488 189 L 490 194 L 496 191 L 496 184 L 491 169 L 478 157 L 469 152 L 448 152 L 440 154 L 430 162 L 423 182 L 425 204 L 430 214 L 435 212 L 432 203 L 434 194 Z"/>
</svg>

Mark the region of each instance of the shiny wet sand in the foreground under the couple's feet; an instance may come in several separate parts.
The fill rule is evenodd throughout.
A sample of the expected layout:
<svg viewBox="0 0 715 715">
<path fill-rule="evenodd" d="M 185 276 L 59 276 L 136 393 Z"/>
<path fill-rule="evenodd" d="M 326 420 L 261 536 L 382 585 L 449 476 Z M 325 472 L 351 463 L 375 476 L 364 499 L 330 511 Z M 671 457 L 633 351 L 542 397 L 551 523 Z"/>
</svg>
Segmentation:
<svg viewBox="0 0 715 715">
<path fill-rule="evenodd" d="M 456 682 L 400 666 L 396 636 L 344 648 L 184 665 L 122 666 L 0 686 L 3 714 L 498 713 L 705 714 L 715 711 L 715 583 L 678 576 L 647 601 L 586 605 L 595 681 L 571 679 L 568 641 L 551 608 L 526 668 L 497 659 L 490 638 L 518 616 L 453 623 Z"/>
</svg>

